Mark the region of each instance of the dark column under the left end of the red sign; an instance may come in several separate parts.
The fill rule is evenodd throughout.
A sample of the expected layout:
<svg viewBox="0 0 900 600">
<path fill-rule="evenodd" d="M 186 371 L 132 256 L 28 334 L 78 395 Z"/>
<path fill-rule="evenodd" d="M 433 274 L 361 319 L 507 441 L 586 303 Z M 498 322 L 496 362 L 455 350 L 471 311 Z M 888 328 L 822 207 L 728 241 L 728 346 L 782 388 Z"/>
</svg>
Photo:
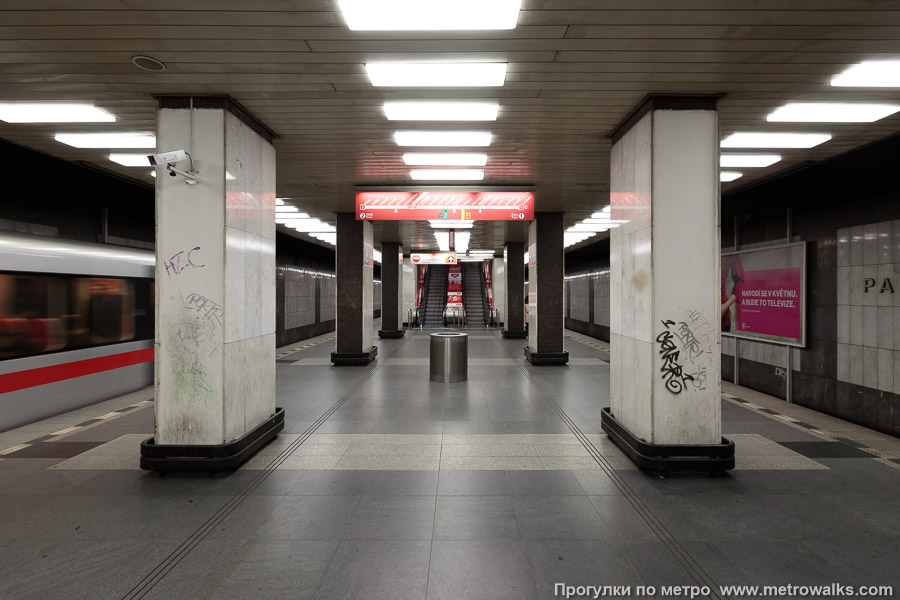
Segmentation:
<svg viewBox="0 0 900 600">
<path fill-rule="evenodd" d="M 367 365 L 378 348 L 372 345 L 372 280 L 375 248 L 372 223 L 357 221 L 356 213 L 338 213 L 335 271 L 337 274 L 337 339 L 331 362 Z M 383 258 L 382 258 L 383 260 Z"/>
</svg>

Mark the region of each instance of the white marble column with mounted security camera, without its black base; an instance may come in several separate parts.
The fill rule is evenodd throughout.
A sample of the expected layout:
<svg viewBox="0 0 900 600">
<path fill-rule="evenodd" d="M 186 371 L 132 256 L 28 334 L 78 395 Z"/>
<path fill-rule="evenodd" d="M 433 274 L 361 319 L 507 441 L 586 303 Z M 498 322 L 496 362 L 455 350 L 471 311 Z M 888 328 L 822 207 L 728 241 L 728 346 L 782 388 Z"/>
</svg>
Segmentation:
<svg viewBox="0 0 900 600">
<path fill-rule="evenodd" d="M 199 172 L 157 168 L 158 445 L 228 443 L 275 413 L 273 134 L 226 98 L 189 103 L 161 100 L 157 132 Z"/>
</svg>

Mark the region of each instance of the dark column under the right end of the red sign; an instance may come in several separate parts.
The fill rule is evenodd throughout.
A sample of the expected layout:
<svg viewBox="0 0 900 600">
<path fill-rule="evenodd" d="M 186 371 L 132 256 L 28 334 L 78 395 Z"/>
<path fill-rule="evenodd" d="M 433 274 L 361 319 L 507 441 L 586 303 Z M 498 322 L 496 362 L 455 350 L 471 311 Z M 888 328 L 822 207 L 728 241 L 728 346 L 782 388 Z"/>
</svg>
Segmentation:
<svg viewBox="0 0 900 600">
<path fill-rule="evenodd" d="M 528 345 L 533 365 L 564 365 L 563 214 L 538 213 L 528 226 Z"/>
</svg>

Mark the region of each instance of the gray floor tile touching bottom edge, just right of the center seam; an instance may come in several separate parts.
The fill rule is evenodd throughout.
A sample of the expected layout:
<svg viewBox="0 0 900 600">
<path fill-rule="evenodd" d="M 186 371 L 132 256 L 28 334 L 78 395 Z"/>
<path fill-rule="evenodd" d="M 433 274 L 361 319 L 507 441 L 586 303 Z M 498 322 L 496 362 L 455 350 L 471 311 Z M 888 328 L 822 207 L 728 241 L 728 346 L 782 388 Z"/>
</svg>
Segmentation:
<svg viewBox="0 0 900 600">
<path fill-rule="evenodd" d="M 434 542 L 428 573 L 429 599 L 536 597 L 535 581 L 521 542 Z"/>
</svg>

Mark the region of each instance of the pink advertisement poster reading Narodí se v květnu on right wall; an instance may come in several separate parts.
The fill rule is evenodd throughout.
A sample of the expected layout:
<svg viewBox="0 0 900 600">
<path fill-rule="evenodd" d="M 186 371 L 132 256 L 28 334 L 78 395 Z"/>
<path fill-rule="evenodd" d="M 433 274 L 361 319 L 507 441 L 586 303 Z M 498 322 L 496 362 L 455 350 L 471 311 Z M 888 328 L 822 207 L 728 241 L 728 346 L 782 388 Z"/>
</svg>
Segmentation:
<svg viewBox="0 0 900 600">
<path fill-rule="evenodd" d="M 806 246 L 722 254 L 722 335 L 806 343 Z"/>
</svg>

